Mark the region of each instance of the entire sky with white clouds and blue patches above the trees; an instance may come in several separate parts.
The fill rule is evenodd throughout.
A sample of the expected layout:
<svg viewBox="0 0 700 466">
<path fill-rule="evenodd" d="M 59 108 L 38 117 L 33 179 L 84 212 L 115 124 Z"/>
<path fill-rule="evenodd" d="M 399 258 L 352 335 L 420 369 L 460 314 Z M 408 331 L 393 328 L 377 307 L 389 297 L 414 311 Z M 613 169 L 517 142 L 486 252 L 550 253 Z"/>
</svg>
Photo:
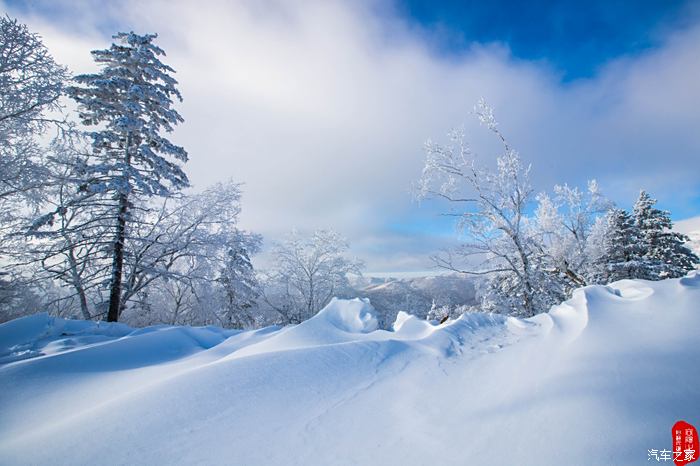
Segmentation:
<svg viewBox="0 0 700 466">
<path fill-rule="evenodd" d="M 2 4 L 2 3 L 0 3 Z M 334 228 L 375 272 L 417 271 L 454 243 L 445 209 L 417 204 L 422 145 L 484 97 L 555 183 L 629 207 L 640 188 L 674 218 L 700 214 L 700 6 L 675 0 L 41 0 L 3 10 L 74 72 L 117 30 L 158 32 L 177 71 L 195 189 L 244 184 L 242 223 L 268 242 Z M 264 256 L 260 259 L 264 263 Z"/>
</svg>

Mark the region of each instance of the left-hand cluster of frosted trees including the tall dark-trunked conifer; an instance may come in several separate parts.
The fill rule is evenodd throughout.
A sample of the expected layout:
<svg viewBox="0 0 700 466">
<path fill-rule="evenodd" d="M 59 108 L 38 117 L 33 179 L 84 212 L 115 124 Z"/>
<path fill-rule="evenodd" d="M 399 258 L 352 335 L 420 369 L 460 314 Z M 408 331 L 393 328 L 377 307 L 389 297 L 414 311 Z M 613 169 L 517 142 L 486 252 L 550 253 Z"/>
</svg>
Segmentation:
<svg viewBox="0 0 700 466">
<path fill-rule="evenodd" d="M 98 72 L 72 76 L 0 18 L 1 320 L 240 328 L 300 322 L 342 293 L 359 263 L 332 231 L 292 233 L 256 273 L 240 185 L 187 191 L 189 154 L 169 139 L 182 96 L 157 35 L 113 39 L 92 52 Z"/>
</svg>

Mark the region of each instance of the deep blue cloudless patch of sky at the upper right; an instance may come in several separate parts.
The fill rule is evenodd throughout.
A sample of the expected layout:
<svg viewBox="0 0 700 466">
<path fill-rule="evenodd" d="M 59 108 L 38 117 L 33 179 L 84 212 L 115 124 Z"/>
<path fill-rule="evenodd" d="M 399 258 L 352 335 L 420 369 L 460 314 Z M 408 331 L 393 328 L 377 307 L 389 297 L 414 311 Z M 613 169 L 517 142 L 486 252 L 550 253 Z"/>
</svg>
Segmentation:
<svg viewBox="0 0 700 466">
<path fill-rule="evenodd" d="M 429 31 L 441 53 L 472 43 L 503 42 L 522 60 L 544 61 L 564 81 L 591 77 L 620 55 L 663 44 L 664 35 L 696 19 L 681 0 L 404 0 L 399 14 Z"/>
</svg>

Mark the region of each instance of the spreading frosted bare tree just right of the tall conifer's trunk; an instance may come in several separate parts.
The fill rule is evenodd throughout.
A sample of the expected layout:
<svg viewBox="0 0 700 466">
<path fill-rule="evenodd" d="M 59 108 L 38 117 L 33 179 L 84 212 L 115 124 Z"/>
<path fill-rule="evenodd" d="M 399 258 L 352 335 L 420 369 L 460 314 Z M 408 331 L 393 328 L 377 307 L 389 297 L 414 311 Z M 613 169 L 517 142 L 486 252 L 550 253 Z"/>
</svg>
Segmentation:
<svg viewBox="0 0 700 466">
<path fill-rule="evenodd" d="M 121 307 L 128 309 L 132 320 L 138 320 L 135 314 L 144 308 L 153 309 L 152 299 L 163 289 L 166 295 L 158 298 L 161 309 L 154 312 L 162 314 L 165 321 L 183 323 L 178 319 L 187 317 L 193 322 L 233 325 L 235 319 L 226 316 L 240 310 L 236 306 L 245 305 L 243 296 L 232 296 L 232 305 L 228 306 L 204 295 L 225 294 L 220 282 L 223 270 L 231 274 L 231 290 L 239 287 L 236 280 L 248 279 L 252 273 L 247 269 L 250 263 L 230 261 L 232 250 L 250 257 L 261 242 L 258 235 L 238 228 L 240 197 L 238 184 L 217 183 L 199 194 L 166 199 L 160 209 L 140 219 L 127 238 L 124 263 Z M 204 298 L 212 309 L 202 309 Z M 182 309 L 178 310 L 188 306 L 191 314 L 204 312 L 208 317 L 185 316 Z M 157 316 L 152 320 L 157 321 Z"/>
</svg>

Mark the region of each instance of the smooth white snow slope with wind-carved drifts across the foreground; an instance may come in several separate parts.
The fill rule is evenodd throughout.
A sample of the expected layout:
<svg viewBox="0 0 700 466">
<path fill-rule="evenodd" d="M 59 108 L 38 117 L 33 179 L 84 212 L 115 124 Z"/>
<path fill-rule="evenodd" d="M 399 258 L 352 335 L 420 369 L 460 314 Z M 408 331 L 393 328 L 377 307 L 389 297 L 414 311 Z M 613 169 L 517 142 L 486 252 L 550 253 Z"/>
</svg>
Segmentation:
<svg viewBox="0 0 700 466">
<path fill-rule="evenodd" d="M 649 464 L 700 423 L 700 275 L 520 320 L 0 326 L 0 464 Z M 652 460 L 653 462 L 653 460 Z"/>
</svg>

